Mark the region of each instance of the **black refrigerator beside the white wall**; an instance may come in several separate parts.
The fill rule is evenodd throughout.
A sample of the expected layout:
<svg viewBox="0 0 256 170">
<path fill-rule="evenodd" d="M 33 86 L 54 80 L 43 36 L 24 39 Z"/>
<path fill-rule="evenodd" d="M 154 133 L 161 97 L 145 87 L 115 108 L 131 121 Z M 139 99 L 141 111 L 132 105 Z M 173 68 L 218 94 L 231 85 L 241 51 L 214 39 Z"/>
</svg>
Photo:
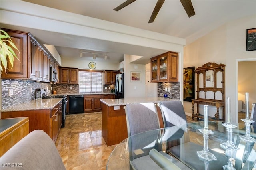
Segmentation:
<svg viewBox="0 0 256 170">
<path fill-rule="evenodd" d="M 116 99 L 124 98 L 124 73 L 116 75 L 116 87 L 115 87 Z"/>
</svg>

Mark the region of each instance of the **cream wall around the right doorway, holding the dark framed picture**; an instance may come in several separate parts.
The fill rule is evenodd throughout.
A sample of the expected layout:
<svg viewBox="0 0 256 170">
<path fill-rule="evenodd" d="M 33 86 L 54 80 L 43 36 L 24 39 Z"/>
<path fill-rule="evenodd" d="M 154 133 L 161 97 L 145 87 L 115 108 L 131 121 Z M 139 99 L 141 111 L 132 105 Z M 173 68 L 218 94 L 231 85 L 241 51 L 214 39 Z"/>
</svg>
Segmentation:
<svg viewBox="0 0 256 170">
<path fill-rule="evenodd" d="M 232 121 L 238 122 L 238 61 L 256 60 L 256 51 L 246 51 L 246 29 L 256 27 L 256 15 L 227 23 L 226 96 L 230 96 Z M 235 112 L 235 113 L 234 113 Z"/>
</svg>

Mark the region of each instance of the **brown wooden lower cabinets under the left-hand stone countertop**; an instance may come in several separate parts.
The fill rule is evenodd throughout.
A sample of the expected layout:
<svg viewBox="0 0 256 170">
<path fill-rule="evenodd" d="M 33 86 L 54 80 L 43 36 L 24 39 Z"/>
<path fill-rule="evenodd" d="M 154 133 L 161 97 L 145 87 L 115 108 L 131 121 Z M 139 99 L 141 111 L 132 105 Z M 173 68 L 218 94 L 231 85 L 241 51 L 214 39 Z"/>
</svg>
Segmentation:
<svg viewBox="0 0 256 170">
<path fill-rule="evenodd" d="M 29 132 L 33 130 L 44 130 L 54 142 L 62 124 L 62 101 L 53 109 L 26 110 L 1 112 L 1 119 L 14 117 L 29 117 Z"/>
</svg>

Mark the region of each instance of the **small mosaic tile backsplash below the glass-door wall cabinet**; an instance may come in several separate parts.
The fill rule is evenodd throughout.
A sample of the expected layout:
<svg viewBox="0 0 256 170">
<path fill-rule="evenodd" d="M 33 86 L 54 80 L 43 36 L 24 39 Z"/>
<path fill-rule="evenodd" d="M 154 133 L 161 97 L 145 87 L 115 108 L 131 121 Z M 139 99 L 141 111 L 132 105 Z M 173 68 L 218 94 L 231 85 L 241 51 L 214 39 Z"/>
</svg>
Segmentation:
<svg viewBox="0 0 256 170">
<path fill-rule="evenodd" d="M 170 87 L 170 92 L 166 92 L 165 88 Z M 180 99 L 180 82 L 167 82 L 157 83 L 157 96 L 164 97 L 164 94 L 168 95 L 170 99 Z"/>
</svg>

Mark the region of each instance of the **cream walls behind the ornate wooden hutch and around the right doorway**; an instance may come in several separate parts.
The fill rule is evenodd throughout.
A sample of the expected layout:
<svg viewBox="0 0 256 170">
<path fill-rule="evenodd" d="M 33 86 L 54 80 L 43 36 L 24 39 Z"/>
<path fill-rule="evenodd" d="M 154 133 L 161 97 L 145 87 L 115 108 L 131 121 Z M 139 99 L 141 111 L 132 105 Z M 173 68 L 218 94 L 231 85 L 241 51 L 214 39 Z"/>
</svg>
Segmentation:
<svg viewBox="0 0 256 170">
<path fill-rule="evenodd" d="M 184 67 L 197 68 L 207 62 L 226 64 L 226 97 L 231 99 L 232 121 L 236 123 L 237 62 L 239 59 L 256 60 L 256 51 L 246 51 L 246 29 L 256 27 L 255 18 L 254 15 L 228 22 L 184 47 Z M 191 106 L 191 102 L 184 102 L 186 112 L 192 113 Z M 214 109 L 209 109 L 209 115 L 214 115 Z"/>
</svg>

